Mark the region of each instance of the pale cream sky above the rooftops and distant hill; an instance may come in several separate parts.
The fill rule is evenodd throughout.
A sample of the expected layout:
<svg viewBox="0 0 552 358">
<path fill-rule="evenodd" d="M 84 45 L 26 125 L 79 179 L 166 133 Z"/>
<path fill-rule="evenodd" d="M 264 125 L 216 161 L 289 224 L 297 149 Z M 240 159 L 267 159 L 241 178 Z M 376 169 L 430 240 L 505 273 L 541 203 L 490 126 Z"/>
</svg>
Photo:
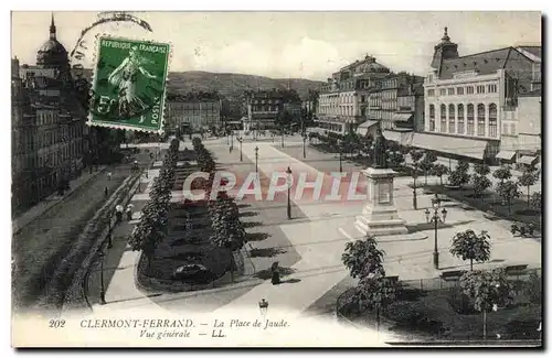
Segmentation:
<svg viewBox="0 0 552 358">
<path fill-rule="evenodd" d="M 98 12 L 55 11 L 57 40 L 71 52 Z M 137 25 L 106 24 L 85 41 L 92 67 L 94 36 L 169 42 L 170 70 L 241 73 L 326 80 L 367 54 L 394 72 L 425 75 L 448 28 L 460 56 L 519 44 L 540 45 L 539 12 L 131 12 Z M 51 12 L 12 12 L 11 56 L 34 64 L 49 39 Z"/>
</svg>

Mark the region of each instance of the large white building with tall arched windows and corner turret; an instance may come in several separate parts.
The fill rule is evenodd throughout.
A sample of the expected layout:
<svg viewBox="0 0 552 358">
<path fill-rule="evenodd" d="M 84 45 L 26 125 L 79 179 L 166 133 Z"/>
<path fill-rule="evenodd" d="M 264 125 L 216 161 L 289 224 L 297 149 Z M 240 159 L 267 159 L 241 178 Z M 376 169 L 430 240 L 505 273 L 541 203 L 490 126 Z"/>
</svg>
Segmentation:
<svg viewBox="0 0 552 358">
<path fill-rule="evenodd" d="M 424 132 L 410 144 L 485 161 L 511 150 L 501 145 L 502 121 L 517 111 L 520 94 L 531 90 L 534 63 L 513 47 L 460 57 L 445 28 L 424 83 Z"/>
</svg>

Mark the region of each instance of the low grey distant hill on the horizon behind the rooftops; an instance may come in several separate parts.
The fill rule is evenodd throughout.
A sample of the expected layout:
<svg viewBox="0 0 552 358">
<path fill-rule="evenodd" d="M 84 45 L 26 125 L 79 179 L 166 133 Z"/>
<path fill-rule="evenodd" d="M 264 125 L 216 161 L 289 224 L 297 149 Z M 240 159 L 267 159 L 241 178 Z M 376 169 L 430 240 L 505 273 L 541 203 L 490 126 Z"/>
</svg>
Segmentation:
<svg viewBox="0 0 552 358">
<path fill-rule="evenodd" d="M 85 69 L 85 77 L 92 77 L 92 70 Z M 287 88 L 288 85 L 305 98 L 309 89 L 320 89 L 320 80 L 300 78 L 269 78 L 255 75 L 223 74 L 203 70 L 169 73 L 169 91 L 185 94 L 190 91 L 216 90 L 223 96 L 237 96 L 244 90 Z"/>
</svg>

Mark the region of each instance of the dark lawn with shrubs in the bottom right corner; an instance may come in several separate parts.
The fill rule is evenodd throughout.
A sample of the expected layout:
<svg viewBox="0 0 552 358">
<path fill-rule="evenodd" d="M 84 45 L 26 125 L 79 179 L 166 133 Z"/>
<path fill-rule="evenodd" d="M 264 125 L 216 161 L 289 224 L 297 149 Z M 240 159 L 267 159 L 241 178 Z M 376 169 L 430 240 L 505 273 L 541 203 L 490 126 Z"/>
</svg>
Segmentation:
<svg viewBox="0 0 552 358">
<path fill-rule="evenodd" d="M 538 339 L 537 328 L 542 321 L 542 305 L 529 299 L 527 285 L 521 284 L 510 305 L 487 313 L 487 339 Z M 520 286 L 520 285 L 518 285 Z M 384 326 L 410 339 L 479 340 L 484 337 L 482 314 L 463 300 L 458 288 L 431 291 L 403 288 L 395 305 L 383 314 Z M 373 312 L 353 318 L 355 323 L 373 326 Z"/>
</svg>

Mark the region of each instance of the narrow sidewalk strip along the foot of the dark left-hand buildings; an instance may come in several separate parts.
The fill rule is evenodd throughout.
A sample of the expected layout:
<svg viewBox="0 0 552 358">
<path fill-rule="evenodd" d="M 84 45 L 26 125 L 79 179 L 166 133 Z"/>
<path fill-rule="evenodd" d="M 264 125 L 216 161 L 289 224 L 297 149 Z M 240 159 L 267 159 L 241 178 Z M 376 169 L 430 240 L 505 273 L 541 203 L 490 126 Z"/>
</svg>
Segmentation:
<svg viewBox="0 0 552 358">
<path fill-rule="evenodd" d="M 70 189 L 66 191 L 63 196 L 59 196 L 57 192 L 55 192 L 49 197 L 44 198 L 39 204 L 29 208 L 26 211 L 19 215 L 17 218 L 14 218 L 11 224 L 12 232 L 17 234 L 22 227 L 24 227 L 25 225 L 34 220 L 36 217 L 41 216 L 42 214 L 54 207 L 55 205 L 62 203 L 65 198 L 67 198 L 74 192 L 76 192 L 86 183 L 88 183 L 89 180 L 104 173 L 105 170 L 106 166 L 99 166 L 97 171 L 94 171 L 91 174 L 88 169 L 84 169 L 83 174 L 81 174 L 81 176 L 70 182 Z"/>
</svg>

